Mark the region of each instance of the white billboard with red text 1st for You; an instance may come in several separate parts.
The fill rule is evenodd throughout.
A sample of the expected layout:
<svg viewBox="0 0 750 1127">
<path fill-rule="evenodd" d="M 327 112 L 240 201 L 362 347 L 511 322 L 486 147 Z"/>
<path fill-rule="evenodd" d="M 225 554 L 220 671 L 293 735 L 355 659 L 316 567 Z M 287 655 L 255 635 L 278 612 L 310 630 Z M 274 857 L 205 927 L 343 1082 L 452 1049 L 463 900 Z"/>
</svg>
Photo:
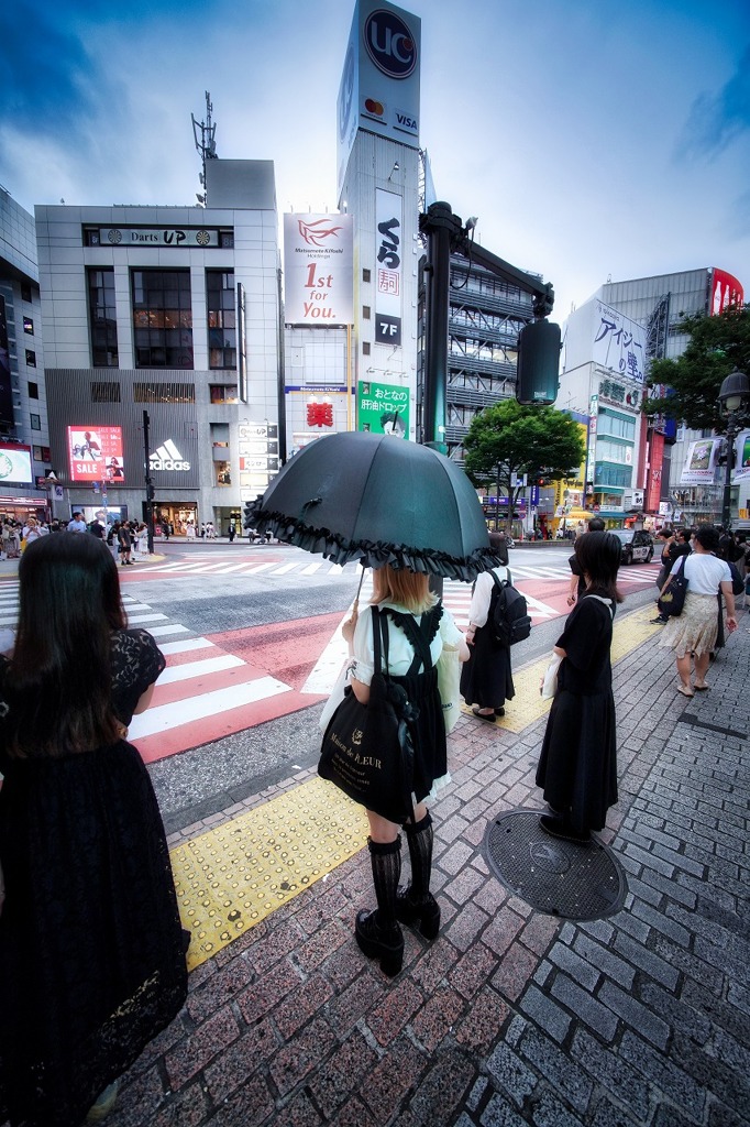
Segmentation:
<svg viewBox="0 0 750 1127">
<path fill-rule="evenodd" d="M 352 230 L 351 215 L 284 216 L 287 325 L 351 325 Z"/>
</svg>

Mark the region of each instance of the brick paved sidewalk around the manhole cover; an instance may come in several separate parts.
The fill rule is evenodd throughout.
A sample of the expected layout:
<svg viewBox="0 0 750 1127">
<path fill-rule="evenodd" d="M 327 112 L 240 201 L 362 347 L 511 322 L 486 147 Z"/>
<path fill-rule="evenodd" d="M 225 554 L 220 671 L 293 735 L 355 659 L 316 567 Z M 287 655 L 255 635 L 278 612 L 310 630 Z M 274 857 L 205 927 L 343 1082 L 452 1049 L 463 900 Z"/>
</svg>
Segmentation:
<svg viewBox="0 0 750 1127">
<path fill-rule="evenodd" d="M 432 811 L 439 939 L 404 930 L 393 982 L 360 955 L 358 854 L 191 975 L 111 1127 L 747 1127 L 747 622 L 694 700 L 654 644 L 615 669 L 620 799 L 601 836 L 623 911 L 556 920 L 489 872 L 488 820 L 542 805 L 544 721 L 517 737 L 463 719 Z"/>
</svg>

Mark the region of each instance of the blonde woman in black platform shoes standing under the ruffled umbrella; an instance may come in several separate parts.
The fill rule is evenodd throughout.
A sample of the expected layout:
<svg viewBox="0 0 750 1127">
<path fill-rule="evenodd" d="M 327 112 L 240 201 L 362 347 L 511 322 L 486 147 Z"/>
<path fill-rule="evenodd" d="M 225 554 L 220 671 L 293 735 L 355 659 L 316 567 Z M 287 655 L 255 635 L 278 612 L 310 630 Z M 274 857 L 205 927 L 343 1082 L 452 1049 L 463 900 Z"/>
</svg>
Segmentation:
<svg viewBox="0 0 750 1127">
<path fill-rule="evenodd" d="M 418 928 L 426 939 L 435 939 L 440 928 L 440 908 L 430 893 L 432 866 L 432 819 L 426 800 L 448 781 L 445 721 L 437 689 L 437 663 L 443 646 L 457 646 L 465 660 L 468 649 L 464 636 L 429 589 L 426 575 L 394 570 L 389 565 L 373 573 L 372 605 L 345 625 L 354 660 L 350 668 L 352 692 L 361 704 L 369 700 L 374 667 L 374 629 L 381 618 L 387 622 L 387 672 L 390 680 L 405 690 L 418 716 L 410 725 L 413 740 L 412 813 L 404 824 L 411 881 L 399 887 L 401 836 L 399 823 L 367 810 L 368 846 L 377 907 L 357 914 L 355 935 L 368 958 L 377 958 L 382 970 L 396 975 L 403 961 L 403 935 L 400 923 Z M 416 632 L 417 631 L 417 632 Z M 413 639 L 413 640 L 412 640 Z M 417 646 L 414 642 L 419 642 Z M 426 645 L 428 664 L 419 662 Z M 378 647 L 380 648 L 380 647 Z M 419 668 L 414 672 L 414 666 Z"/>
</svg>

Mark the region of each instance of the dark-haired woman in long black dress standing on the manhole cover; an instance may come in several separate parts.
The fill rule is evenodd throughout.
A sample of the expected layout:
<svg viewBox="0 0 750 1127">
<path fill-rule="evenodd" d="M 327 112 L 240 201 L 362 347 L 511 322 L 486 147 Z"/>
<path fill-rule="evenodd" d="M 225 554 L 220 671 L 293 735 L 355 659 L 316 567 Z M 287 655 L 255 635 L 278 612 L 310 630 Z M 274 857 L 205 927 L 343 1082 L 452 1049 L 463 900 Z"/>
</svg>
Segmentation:
<svg viewBox="0 0 750 1127">
<path fill-rule="evenodd" d="M 562 657 L 557 691 L 544 734 L 536 784 L 551 814 L 539 818 L 555 837 L 587 842 L 617 801 L 615 700 L 611 692 L 611 624 L 620 543 L 609 532 L 575 541 L 586 593 L 554 646 Z"/>
</svg>

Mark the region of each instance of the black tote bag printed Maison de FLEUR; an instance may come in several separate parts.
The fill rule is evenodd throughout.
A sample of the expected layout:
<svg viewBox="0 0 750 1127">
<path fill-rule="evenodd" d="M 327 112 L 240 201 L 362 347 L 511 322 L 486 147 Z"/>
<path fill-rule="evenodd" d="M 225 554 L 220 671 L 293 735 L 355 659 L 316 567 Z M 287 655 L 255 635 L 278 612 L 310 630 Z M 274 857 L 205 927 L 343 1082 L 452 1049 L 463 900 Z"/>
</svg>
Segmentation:
<svg viewBox="0 0 750 1127">
<path fill-rule="evenodd" d="M 323 735 L 318 773 L 367 810 L 403 824 L 413 814 L 414 752 L 409 724 L 418 710 L 387 675 L 387 620 L 376 606 L 372 613 L 375 672 L 369 700 L 360 704 L 347 686 Z"/>
</svg>

